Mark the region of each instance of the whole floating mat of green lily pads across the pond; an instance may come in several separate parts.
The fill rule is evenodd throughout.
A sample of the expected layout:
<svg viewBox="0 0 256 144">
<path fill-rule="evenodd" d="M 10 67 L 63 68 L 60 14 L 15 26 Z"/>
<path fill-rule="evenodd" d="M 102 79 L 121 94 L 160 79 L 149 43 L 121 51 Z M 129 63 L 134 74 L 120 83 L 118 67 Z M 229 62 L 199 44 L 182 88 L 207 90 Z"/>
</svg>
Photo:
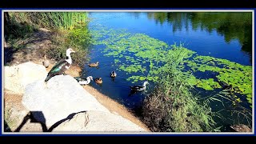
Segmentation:
<svg viewBox="0 0 256 144">
<path fill-rule="evenodd" d="M 107 29 L 101 26 L 90 32 L 93 35 L 91 43 L 105 45 L 106 48 L 102 52 L 107 57 L 114 57 L 118 70 L 126 74 L 134 74 L 126 78 L 127 81 L 138 82 L 147 79 L 157 82 L 158 74 L 170 66 L 167 64 L 170 55 L 172 58 L 181 58 L 180 54 L 183 54 L 183 62 L 178 66 L 183 71 L 187 71 L 188 68 L 192 72 L 216 73 L 216 78 L 201 79 L 192 76 L 187 79 L 191 85 L 204 90 L 214 90 L 222 88 L 221 84 L 224 83 L 230 86 L 233 92 L 246 95 L 248 102 L 252 102 L 252 66 L 242 66 L 226 59 L 198 55 L 182 44 L 174 43 L 169 46 L 166 42 L 146 34 L 132 34 L 127 30 Z"/>
</svg>

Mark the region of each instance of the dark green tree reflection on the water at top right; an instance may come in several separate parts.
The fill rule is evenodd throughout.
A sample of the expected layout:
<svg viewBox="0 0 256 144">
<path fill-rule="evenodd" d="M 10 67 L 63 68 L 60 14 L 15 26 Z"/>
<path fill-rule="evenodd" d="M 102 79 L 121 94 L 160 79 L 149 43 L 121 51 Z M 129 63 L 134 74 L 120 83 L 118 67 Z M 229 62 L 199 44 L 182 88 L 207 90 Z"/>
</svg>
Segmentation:
<svg viewBox="0 0 256 144">
<path fill-rule="evenodd" d="M 136 17 L 138 14 L 133 13 Z M 206 30 L 212 33 L 214 30 L 223 35 L 225 42 L 238 39 L 242 50 L 252 54 L 252 14 L 243 13 L 148 13 L 147 18 L 154 19 L 156 23 L 169 22 L 173 26 L 173 32 L 181 31 L 185 26 L 189 30 L 191 23 L 193 30 Z"/>
</svg>

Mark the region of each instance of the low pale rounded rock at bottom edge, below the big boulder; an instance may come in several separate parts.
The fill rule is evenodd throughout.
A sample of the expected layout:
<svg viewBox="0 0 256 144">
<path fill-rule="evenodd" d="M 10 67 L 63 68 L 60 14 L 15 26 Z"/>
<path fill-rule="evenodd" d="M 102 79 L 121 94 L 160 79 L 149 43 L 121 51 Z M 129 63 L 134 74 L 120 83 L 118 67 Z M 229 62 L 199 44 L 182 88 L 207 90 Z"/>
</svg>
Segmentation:
<svg viewBox="0 0 256 144">
<path fill-rule="evenodd" d="M 55 127 L 53 132 L 146 132 L 146 130 L 118 114 L 109 114 L 102 111 L 86 111 L 70 117 Z"/>
</svg>

